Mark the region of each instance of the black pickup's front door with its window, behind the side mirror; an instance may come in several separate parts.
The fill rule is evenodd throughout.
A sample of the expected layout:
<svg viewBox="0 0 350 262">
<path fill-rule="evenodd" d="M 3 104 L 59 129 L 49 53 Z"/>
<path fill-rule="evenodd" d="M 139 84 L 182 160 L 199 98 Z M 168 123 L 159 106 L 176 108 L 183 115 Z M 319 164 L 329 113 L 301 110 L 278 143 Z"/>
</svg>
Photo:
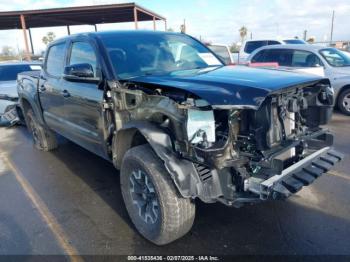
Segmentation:
<svg viewBox="0 0 350 262">
<path fill-rule="evenodd" d="M 67 65 L 88 63 L 95 77 L 101 77 L 96 48 L 87 40 L 70 43 Z M 105 157 L 103 90 L 97 82 L 63 80 L 66 136 L 82 147 Z"/>
</svg>

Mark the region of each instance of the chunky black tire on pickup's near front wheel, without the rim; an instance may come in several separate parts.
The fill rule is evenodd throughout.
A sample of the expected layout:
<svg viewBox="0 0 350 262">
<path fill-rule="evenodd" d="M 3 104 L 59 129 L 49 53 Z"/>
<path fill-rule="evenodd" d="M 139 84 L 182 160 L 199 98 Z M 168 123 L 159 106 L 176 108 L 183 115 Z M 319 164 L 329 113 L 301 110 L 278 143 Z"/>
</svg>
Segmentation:
<svg viewBox="0 0 350 262">
<path fill-rule="evenodd" d="M 154 224 L 147 224 L 139 215 L 130 192 L 130 177 L 135 169 L 142 170 L 154 185 L 159 213 Z M 183 198 L 175 188 L 170 174 L 149 145 L 129 149 L 121 166 L 121 191 L 126 209 L 136 229 L 156 245 L 168 244 L 184 236 L 192 227 L 195 204 Z"/>
</svg>

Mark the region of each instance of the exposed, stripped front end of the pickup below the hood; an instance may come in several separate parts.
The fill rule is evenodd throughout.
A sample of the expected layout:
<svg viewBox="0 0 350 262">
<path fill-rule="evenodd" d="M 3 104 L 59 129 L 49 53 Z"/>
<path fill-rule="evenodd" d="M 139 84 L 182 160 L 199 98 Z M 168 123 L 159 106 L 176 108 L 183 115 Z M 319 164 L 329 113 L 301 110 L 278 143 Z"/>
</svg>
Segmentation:
<svg viewBox="0 0 350 262">
<path fill-rule="evenodd" d="M 281 174 L 319 148 L 315 144 L 332 143 L 320 127 L 333 110 L 328 80 L 271 93 L 258 109 L 218 107 L 176 88 L 122 84 L 108 98 L 114 105 L 114 129 L 148 121 L 168 134 L 175 161 L 192 164 L 197 173 L 191 182 L 177 178 L 178 187 L 205 202 L 253 201 L 245 181 Z M 325 141 L 317 142 L 322 136 Z"/>
</svg>

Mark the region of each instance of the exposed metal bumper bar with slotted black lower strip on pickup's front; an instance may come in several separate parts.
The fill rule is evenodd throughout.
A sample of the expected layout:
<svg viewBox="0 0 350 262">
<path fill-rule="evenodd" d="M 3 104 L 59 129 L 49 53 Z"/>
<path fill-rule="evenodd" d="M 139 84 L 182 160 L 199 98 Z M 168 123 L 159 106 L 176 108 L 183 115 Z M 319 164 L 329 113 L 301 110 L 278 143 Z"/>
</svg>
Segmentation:
<svg viewBox="0 0 350 262">
<path fill-rule="evenodd" d="M 331 147 L 324 147 L 286 168 L 279 175 L 266 180 L 256 177 L 247 179 L 245 190 L 258 194 L 261 200 L 287 198 L 329 171 L 342 158 L 343 155 Z"/>
</svg>

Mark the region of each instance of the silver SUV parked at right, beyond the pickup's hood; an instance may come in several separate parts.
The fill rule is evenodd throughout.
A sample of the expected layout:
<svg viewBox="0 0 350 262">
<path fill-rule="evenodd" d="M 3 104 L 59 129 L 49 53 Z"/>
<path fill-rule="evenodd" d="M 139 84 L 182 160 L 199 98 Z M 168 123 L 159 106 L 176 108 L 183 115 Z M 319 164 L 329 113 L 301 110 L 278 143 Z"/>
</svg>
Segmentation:
<svg viewBox="0 0 350 262">
<path fill-rule="evenodd" d="M 350 115 L 350 54 L 336 48 L 316 45 L 275 45 L 255 50 L 251 63 L 276 62 L 280 67 L 299 70 L 323 68 L 335 92 L 335 105 Z"/>
</svg>

